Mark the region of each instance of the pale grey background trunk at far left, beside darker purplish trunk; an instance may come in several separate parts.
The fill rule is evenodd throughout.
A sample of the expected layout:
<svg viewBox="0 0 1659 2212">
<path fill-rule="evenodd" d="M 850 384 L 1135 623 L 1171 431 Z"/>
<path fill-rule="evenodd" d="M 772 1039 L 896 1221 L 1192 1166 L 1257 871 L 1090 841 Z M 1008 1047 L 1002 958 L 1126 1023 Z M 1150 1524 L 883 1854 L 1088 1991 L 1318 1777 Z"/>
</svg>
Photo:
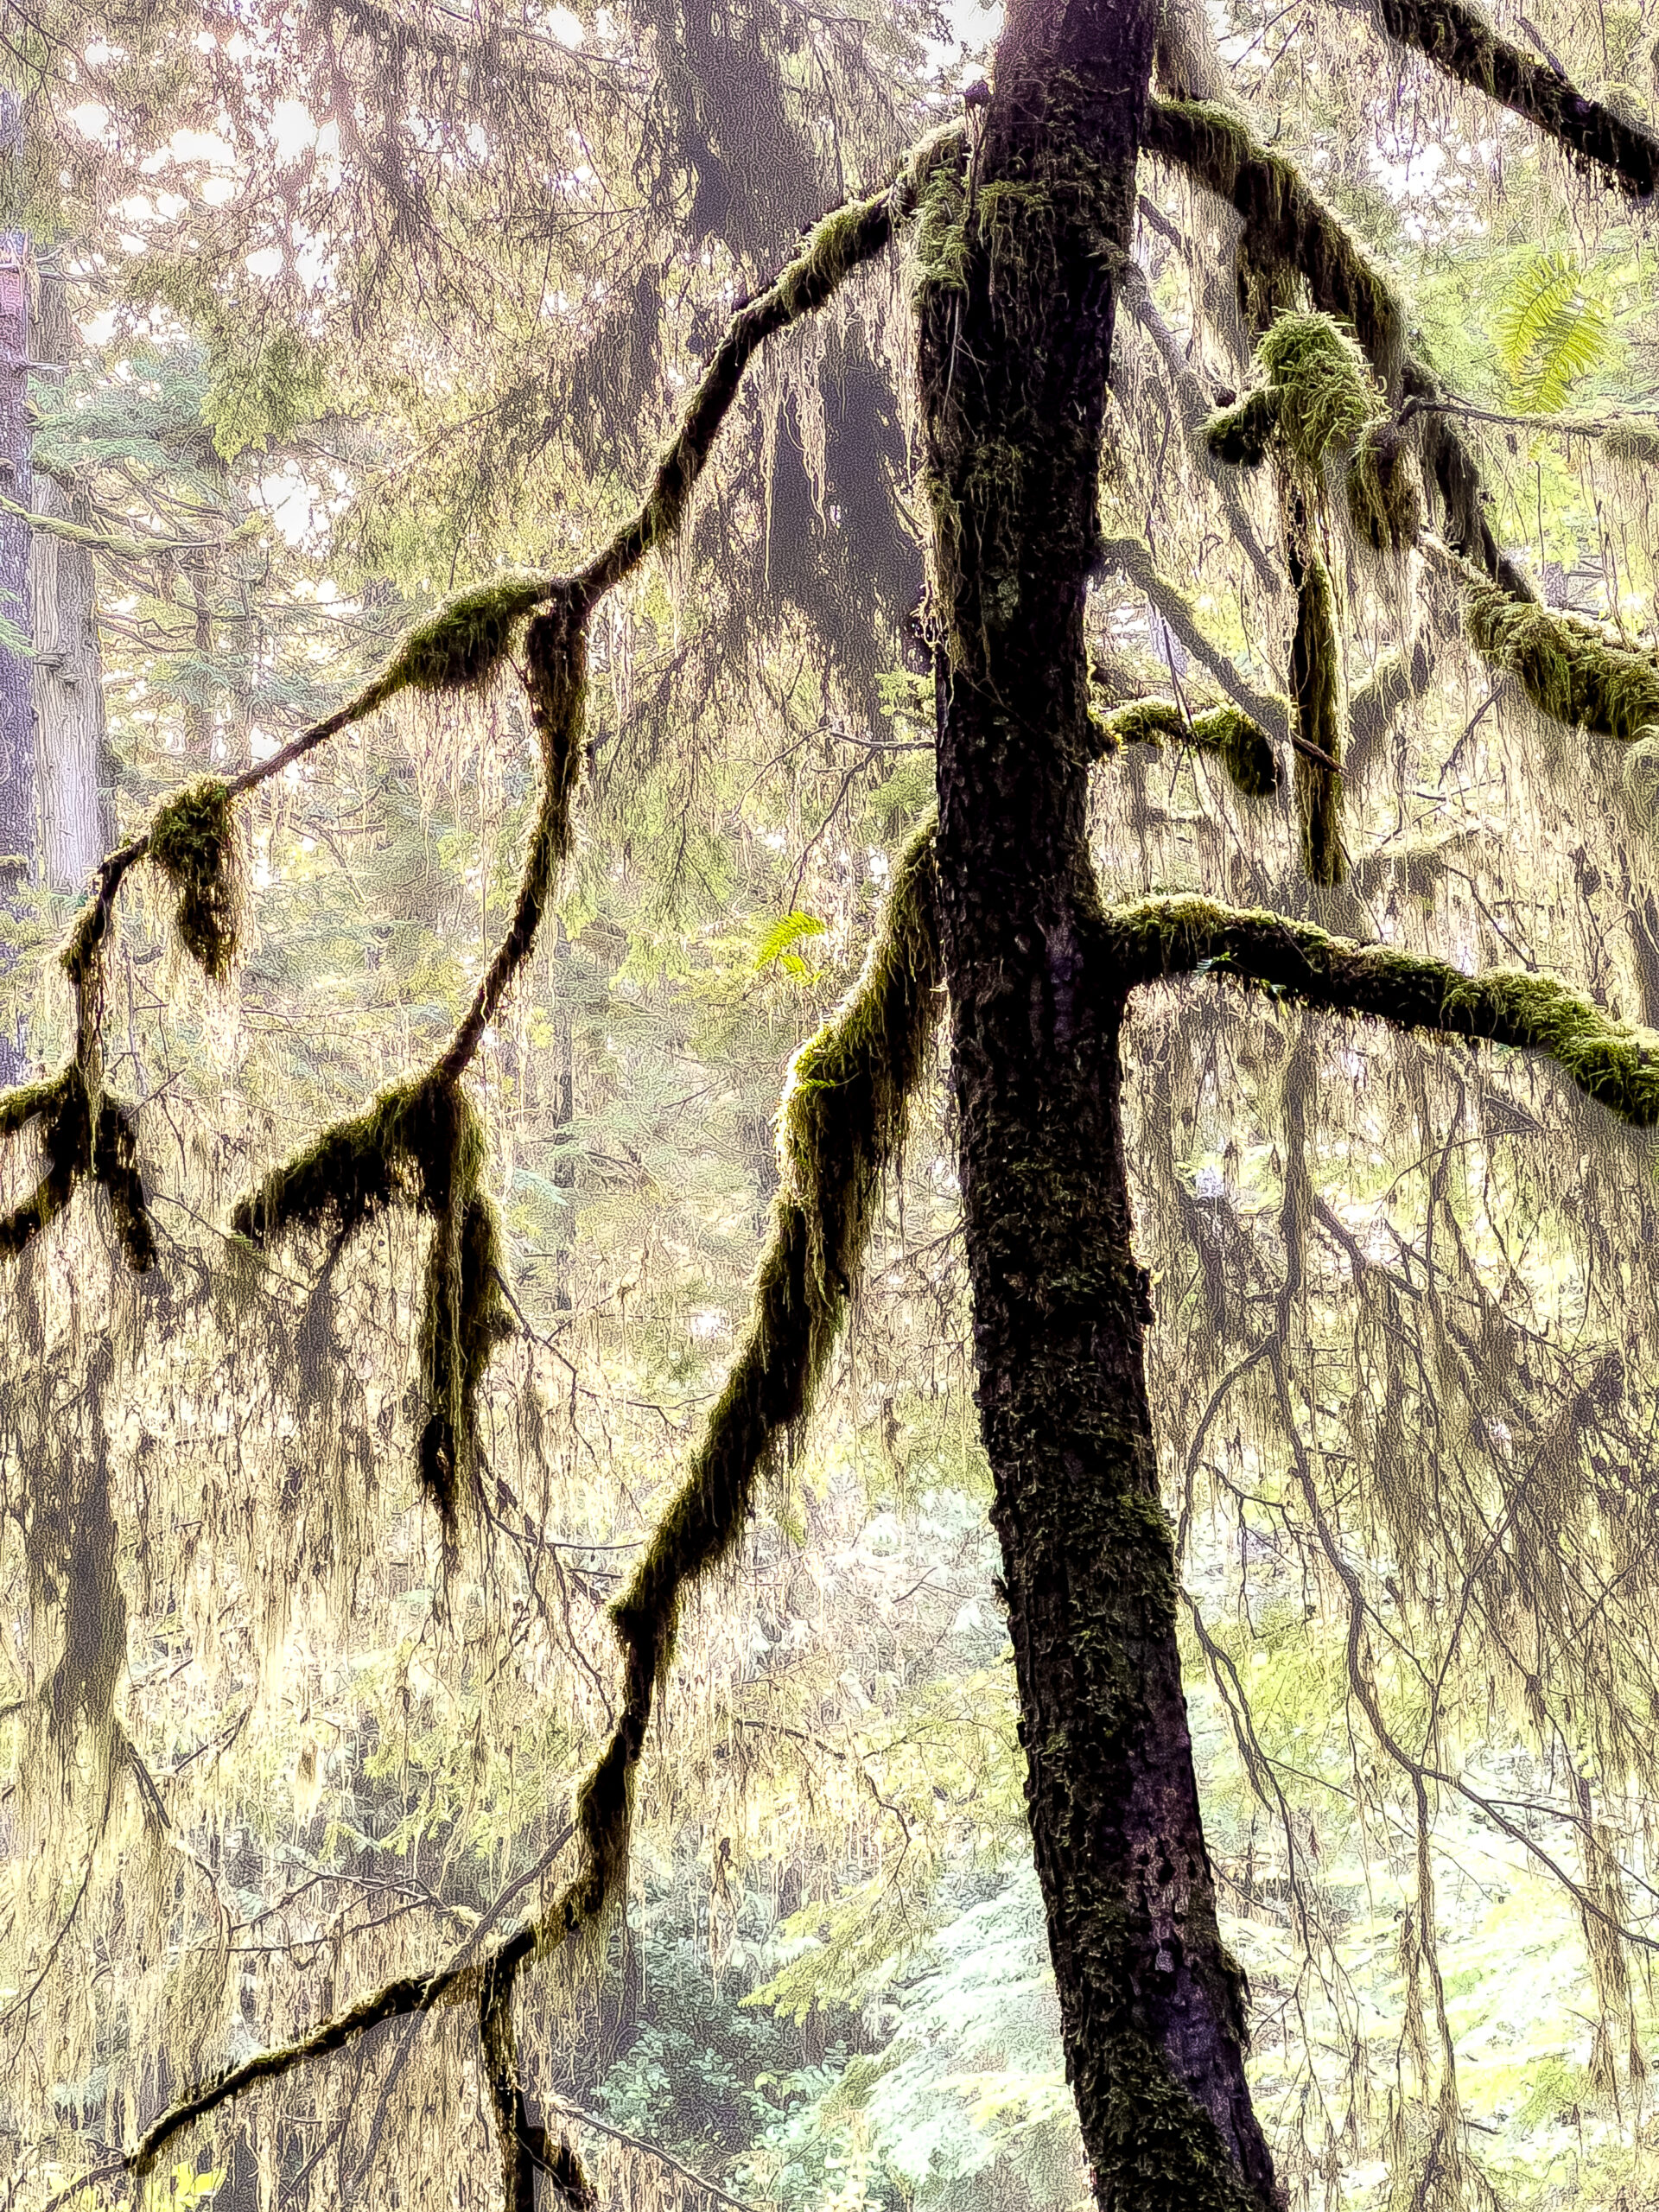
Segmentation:
<svg viewBox="0 0 1659 2212">
<path fill-rule="evenodd" d="M 64 367 L 73 352 L 69 294 L 60 272 L 42 272 L 35 358 Z M 38 515 L 86 522 L 51 476 L 35 476 Z M 69 538 L 35 531 L 29 549 L 35 641 L 35 774 L 40 783 L 40 872 L 53 891 L 80 891 L 113 843 L 97 653 L 93 555 Z"/>
</svg>

